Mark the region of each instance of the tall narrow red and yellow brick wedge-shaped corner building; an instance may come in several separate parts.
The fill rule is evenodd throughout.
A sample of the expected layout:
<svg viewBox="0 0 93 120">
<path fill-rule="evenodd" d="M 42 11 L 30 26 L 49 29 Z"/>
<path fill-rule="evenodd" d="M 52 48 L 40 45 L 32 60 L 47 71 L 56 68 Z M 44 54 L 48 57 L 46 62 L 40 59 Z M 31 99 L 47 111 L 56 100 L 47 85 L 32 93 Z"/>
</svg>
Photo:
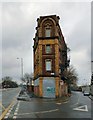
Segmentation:
<svg viewBox="0 0 93 120">
<path fill-rule="evenodd" d="M 59 16 L 40 16 L 34 38 L 34 93 L 39 97 L 56 98 L 67 94 L 62 80 L 67 68 L 67 45 Z"/>
</svg>

